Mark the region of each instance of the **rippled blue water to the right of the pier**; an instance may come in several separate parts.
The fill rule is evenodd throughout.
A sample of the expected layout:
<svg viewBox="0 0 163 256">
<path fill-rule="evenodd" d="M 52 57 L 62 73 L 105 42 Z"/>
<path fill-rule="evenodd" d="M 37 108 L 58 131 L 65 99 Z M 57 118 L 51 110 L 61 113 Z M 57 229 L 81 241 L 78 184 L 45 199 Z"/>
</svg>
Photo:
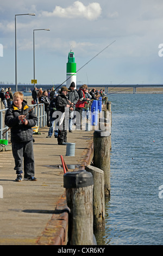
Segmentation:
<svg viewBox="0 0 163 256">
<path fill-rule="evenodd" d="M 163 245 L 163 95 L 112 94 L 111 197 L 98 245 Z"/>
</svg>

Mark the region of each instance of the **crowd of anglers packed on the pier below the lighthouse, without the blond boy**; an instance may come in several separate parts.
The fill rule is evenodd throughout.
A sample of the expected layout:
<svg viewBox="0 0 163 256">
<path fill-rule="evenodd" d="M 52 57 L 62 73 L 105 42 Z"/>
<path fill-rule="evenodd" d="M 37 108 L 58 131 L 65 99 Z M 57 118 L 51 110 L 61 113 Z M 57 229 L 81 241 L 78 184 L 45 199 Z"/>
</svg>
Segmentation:
<svg viewBox="0 0 163 256">
<path fill-rule="evenodd" d="M 43 90 L 34 88 L 32 92 L 33 103 L 43 103 L 47 113 L 47 126 L 49 127 L 47 138 L 58 138 L 58 144 L 64 145 L 67 142 L 67 130 L 72 132 L 73 123 L 76 129 L 82 129 L 83 111 L 86 118 L 90 120 L 90 108 L 92 100 L 102 97 L 104 101 L 104 90 L 89 90 L 86 84 L 78 89 L 74 82 L 70 87 L 61 87 L 58 92 L 54 88 Z M 65 109 L 68 111 L 68 120 L 65 118 Z M 67 117 L 67 113 L 66 113 Z M 67 125 L 68 123 L 68 125 Z"/>
</svg>

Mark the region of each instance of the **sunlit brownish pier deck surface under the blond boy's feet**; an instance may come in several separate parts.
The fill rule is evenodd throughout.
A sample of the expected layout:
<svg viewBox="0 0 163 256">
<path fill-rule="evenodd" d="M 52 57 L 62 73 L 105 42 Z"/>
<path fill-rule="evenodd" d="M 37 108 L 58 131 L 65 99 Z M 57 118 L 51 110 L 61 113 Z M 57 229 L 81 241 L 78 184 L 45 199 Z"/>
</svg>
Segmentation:
<svg viewBox="0 0 163 256">
<path fill-rule="evenodd" d="M 93 131 L 67 132 L 67 141 L 76 147 L 75 156 L 66 156 L 66 145 L 58 145 L 54 135 L 46 138 L 48 129 L 33 136 L 37 181 L 15 182 L 12 151 L 0 152 L 0 245 L 66 245 L 68 209 L 66 216 L 60 156 L 70 172 L 83 166 Z"/>
</svg>

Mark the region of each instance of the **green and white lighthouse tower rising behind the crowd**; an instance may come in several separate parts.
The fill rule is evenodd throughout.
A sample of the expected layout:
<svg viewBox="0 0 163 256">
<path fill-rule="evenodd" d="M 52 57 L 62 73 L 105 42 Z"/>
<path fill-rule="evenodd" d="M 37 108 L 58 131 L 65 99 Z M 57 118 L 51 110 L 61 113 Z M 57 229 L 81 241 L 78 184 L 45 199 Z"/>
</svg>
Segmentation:
<svg viewBox="0 0 163 256">
<path fill-rule="evenodd" d="M 66 87 L 69 88 L 72 82 L 77 86 L 76 63 L 72 50 L 68 53 L 68 62 L 66 70 Z"/>
</svg>

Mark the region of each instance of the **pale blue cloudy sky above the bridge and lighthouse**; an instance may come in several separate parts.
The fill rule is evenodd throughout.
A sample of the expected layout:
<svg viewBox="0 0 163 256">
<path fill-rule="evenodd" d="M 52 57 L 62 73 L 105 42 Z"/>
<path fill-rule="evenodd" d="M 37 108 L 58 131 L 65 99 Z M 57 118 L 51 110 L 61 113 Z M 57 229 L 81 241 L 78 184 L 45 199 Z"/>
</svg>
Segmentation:
<svg viewBox="0 0 163 256">
<path fill-rule="evenodd" d="M 156 84 L 163 80 L 162 0 L 1 0 L 0 83 L 66 80 L 74 52 L 77 84 Z M 108 46 L 108 47 L 107 47 Z M 101 52 L 102 51 L 102 52 Z M 100 53 L 101 52 L 101 53 Z M 98 54 L 99 53 L 99 54 Z"/>
</svg>

